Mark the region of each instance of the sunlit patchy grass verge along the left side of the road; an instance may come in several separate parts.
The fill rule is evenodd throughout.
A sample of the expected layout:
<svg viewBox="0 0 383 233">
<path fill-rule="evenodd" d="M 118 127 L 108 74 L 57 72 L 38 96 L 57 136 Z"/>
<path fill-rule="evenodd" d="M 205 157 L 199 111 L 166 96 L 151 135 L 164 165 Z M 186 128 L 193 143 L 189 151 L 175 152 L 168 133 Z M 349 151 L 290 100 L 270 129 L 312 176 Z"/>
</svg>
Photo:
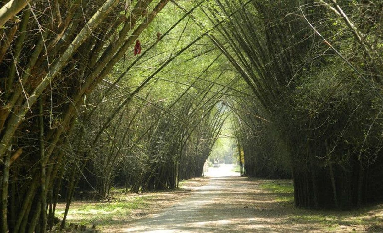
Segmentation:
<svg viewBox="0 0 383 233">
<path fill-rule="evenodd" d="M 111 229 L 128 224 L 134 219 L 153 214 L 190 194 L 190 188 L 205 184 L 205 178 L 180 181 L 179 189 L 144 194 L 124 193 L 123 188 L 112 188 L 113 199 L 109 202 L 73 201 L 67 215 L 66 231 L 75 226 L 85 226 L 92 231 L 110 232 Z M 65 203 L 56 207 L 56 217 L 64 217 Z M 75 231 L 77 232 L 77 231 Z"/>
</svg>

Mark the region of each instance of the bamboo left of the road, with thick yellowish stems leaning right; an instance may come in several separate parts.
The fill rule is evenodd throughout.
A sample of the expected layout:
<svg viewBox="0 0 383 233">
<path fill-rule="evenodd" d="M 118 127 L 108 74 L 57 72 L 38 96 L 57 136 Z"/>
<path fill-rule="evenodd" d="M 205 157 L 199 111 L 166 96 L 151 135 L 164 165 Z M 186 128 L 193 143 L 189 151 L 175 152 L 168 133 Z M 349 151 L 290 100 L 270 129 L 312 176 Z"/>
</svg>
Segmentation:
<svg viewBox="0 0 383 233">
<path fill-rule="evenodd" d="M 63 197 L 65 227 L 77 187 L 102 199 L 116 183 L 134 192 L 160 190 L 202 174 L 224 120 L 216 104 L 228 90 L 200 80 L 216 75 L 210 69 L 219 54 L 200 65 L 198 76 L 186 77 L 195 80 L 187 89 L 173 87 L 178 96 L 158 90 L 163 81 L 156 74 L 203 38 L 158 51 L 166 51 L 166 41 L 160 43 L 167 34 L 185 31 L 184 19 L 198 6 L 152 26 L 168 3 L 1 3 L 0 17 L 10 17 L 1 44 L 3 232 L 51 229 Z M 159 28 L 164 21 L 171 24 Z M 178 42 L 184 34 L 176 33 Z M 144 51 L 133 56 L 139 37 Z"/>
</svg>

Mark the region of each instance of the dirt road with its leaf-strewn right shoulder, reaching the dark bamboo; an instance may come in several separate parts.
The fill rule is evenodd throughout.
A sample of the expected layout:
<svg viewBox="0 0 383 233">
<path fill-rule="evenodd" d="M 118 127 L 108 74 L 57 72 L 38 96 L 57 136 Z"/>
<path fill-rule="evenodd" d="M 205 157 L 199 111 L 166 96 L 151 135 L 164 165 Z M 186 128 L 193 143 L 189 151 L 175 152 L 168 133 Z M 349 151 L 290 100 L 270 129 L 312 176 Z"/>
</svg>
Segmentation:
<svg viewBox="0 0 383 233">
<path fill-rule="evenodd" d="M 117 232 L 355 232 L 365 231 L 371 222 L 363 221 L 382 213 L 379 206 L 362 212 L 370 215 L 366 218 L 360 211 L 298 209 L 291 193 L 286 201 L 283 193 L 260 188 L 270 181 L 239 177 L 232 165 L 211 168 L 206 175 L 211 177 L 207 185 L 194 187 L 190 196 Z"/>
</svg>

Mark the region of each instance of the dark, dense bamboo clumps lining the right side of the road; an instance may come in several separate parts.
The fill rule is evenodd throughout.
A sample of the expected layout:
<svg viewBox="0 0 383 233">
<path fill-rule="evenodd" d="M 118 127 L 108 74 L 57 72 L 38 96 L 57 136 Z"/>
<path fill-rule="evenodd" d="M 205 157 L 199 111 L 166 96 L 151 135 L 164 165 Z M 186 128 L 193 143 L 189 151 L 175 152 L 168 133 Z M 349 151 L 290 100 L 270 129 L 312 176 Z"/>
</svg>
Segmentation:
<svg viewBox="0 0 383 233">
<path fill-rule="evenodd" d="M 245 172 L 292 177 L 301 207 L 381 200 L 381 3 L 252 3 L 221 31 L 255 95 L 232 103 Z"/>
</svg>

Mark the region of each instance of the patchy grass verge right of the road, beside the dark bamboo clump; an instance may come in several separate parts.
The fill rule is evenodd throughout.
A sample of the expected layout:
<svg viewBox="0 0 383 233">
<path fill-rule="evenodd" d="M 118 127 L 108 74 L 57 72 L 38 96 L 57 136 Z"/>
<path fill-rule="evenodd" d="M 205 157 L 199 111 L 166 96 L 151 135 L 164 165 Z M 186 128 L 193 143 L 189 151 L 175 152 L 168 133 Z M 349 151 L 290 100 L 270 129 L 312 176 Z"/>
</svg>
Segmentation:
<svg viewBox="0 0 383 233">
<path fill-rule="evenodd" d="M 284 224 L 321 232 L 383 232 L 383 204 L 344 211 L 303 209 L 294 206 L 291 180 L 262 180 L 259 186 L 273 196 L 270 208 L 283 213 Z"/>
</svg>

